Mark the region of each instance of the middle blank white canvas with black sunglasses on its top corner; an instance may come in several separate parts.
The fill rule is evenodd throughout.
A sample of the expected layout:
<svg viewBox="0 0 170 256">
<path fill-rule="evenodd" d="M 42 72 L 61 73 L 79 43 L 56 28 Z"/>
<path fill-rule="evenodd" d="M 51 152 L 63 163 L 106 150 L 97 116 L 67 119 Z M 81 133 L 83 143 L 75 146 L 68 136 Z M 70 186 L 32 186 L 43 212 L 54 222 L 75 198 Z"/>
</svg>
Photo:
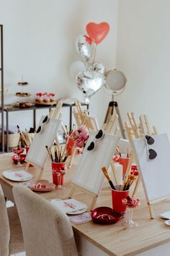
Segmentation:
<svg viewBox="0 0 170 256">
<path fill-rule="evenodd" d="M 105 180 L 101 168 L 102 166 L 106 166 L 107 169 L 109 168 L 109 163 L 115 154 L 115 148 L 120 137 L 105 134 L 101 140 L 95 141 L 96 148 L 94 150 L 86 150 L 96 135 L 97 132 L 90 133 L 72 183 L 93 192 L 95 195 L 99 195 Z"/>
</svg>

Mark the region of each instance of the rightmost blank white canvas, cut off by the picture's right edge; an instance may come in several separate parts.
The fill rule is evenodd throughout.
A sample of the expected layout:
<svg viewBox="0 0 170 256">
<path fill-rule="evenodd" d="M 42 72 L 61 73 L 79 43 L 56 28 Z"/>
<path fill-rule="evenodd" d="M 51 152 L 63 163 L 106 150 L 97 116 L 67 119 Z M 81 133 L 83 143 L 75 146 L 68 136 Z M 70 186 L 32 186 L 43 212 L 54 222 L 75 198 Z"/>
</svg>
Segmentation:
<svg viewBox="0 0 170 256">
<path fill-rule="evenodd" d="M 155 142 L 148 145 L 156 151 L 157 156 L 152 161 L 147 158 L 145 138 L 133 140 L 136 161 L 143 180 L 143 187 L 148 201 L 170 195 L 170 144 L 166 134 L 152 136 Z"/>
</svg>

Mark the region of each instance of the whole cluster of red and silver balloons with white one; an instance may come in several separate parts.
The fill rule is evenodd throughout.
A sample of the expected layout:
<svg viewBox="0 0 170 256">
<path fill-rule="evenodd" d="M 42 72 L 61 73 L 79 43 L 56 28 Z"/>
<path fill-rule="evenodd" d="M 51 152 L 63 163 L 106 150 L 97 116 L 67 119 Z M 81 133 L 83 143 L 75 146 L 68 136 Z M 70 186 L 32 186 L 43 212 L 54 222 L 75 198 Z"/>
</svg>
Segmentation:
<svg viewBox="0 0 170 256">
<path fill-rule="evenodd" d="M 70 73 L 72 77 L 76 76 L 76 84 L 84 93 L 86 103 L 89 103 L 91 96 L 102 88 L 106 81 L 104 64 L 102 61 L 95 61 L 95 56 L 97 45 L 109 33 L 109 24 L 90 22 L 86 25 L 86 33 L 87 35 L 79 35 L 76 38 L 76 52 L 84 62 L 74 62 Z"/>
</svg>

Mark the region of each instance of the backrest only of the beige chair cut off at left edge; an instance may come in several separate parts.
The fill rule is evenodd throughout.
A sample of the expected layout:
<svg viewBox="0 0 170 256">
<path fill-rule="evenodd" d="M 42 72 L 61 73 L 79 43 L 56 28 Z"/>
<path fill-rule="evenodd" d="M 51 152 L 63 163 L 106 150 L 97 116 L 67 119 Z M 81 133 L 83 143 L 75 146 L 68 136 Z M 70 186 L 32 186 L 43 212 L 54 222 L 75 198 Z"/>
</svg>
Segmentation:
<svg viewBox="0 0 170 256">
<path fill-rule="evenodd" d="M 0 256 L 9 255 L 10 228 L 4 193 L 0 185 Z"/>
</svg>

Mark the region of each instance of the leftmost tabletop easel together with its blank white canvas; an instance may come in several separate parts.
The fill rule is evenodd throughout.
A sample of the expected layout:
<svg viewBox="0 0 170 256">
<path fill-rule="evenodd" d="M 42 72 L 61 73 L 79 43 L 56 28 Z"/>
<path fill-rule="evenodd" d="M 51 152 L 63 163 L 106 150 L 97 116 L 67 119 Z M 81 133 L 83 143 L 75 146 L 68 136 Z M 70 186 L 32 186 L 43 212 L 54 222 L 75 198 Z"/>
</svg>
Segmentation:
<svg viewBox="0 0 170 256">
<path fill-rule="evenodd" d="M 45 130 L 44 132 L 42 132 L 42 134 L 35 133 L 35 137 L 32 140 L 30 149 L 25 159 L 27 161 L 25 171 L 28 170 L 30 164 L 36 166 L 37 168 L 40 168 L 40 174 L 38 176 L 38 179 L 40 179 L 40 177 L 42 176 L 42 171 L 44 169 L 45 163 L 48 161 L 49 155 L 45 148 L 45 145 L 50 145 L 50 147 L 52 147 L 53 141 L 55 140 L 58 132 L 58 128 L 61 124 L 60 118 L 62 105 L 62 101 L 58 101 L 56 108 L 50 112 L 49 121 L 47 124 L 42 124 L 42 120 L 45 118 L 45 116 L 42 116 L 39 126 L 45 125 Z"/>
</svg>

